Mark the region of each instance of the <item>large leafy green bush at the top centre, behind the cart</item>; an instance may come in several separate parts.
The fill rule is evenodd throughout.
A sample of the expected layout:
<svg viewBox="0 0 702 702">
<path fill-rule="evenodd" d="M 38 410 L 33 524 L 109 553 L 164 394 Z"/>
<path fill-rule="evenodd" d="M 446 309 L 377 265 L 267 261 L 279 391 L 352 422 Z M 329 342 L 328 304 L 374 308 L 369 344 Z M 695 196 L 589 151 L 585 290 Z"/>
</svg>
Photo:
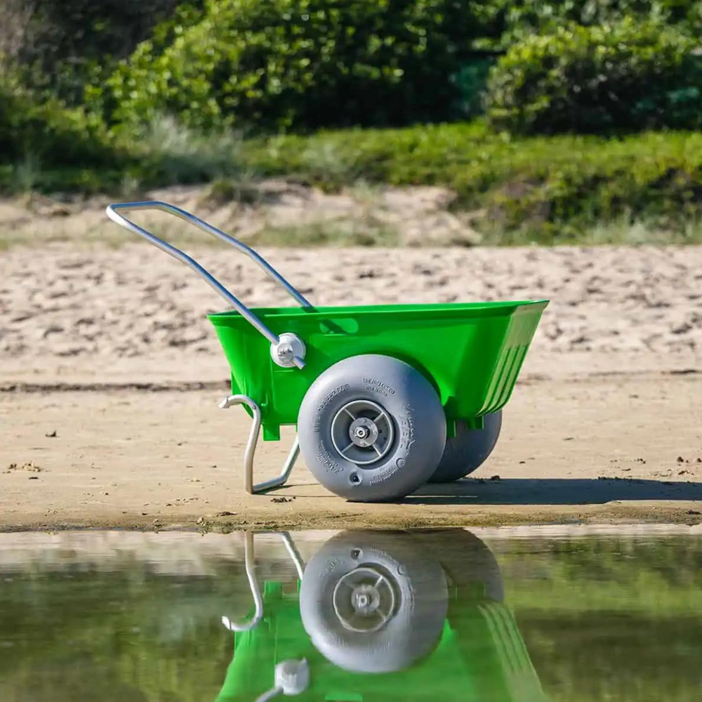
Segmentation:
<svg viewBox="0 0 702 702">
<path fill-rule="evenodd" d="M 174 114 L 256 131 L 456 117 L 480 23 L 458 0 L 210 0 L 150 41 L 93 98 L 116 122 Z M 105 93 L 108 93 L 106 96 Z"/>
</svg>

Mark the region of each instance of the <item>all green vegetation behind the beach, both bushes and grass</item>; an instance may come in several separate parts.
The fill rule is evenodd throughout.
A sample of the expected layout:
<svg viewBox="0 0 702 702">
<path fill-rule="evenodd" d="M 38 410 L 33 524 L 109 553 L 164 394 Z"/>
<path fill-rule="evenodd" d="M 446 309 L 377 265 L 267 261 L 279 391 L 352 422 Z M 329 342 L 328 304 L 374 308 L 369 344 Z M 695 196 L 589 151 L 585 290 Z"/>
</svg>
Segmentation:
<svg viewBox="0 0 702 702">
<path fill-rule="evenodd" d="M 491 243 L 700 241 L 702 2 L 70 5 L 0 0 L 0 192 L 443 185 Z"/>
</svg>

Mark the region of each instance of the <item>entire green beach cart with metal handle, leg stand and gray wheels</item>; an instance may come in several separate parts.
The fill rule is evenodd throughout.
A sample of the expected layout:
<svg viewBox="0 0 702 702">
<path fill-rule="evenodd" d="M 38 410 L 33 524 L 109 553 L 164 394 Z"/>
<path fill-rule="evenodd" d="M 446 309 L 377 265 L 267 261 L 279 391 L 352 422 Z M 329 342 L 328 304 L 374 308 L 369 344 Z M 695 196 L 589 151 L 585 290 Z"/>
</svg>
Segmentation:
<svg viewBox="0 0 702 702">
<path fill-rule="evenodd" d="M 156 208 L 245 253 L 296 300 L 249 309 L 199 263 L 125 218 Z M 253 418 L 244 468 L 251 494 L 282 486 L 298 453 L 328 489 L 352 501 L 402 498 L 425 482 L 457 479 L 492 450 L 548 300 L 314 307 L 258 253 L 180 208 L 111 205 L 126 229 L 190 266 L 234 308 L 211 314 L 229 362 L 232 395 Z M 253 457 L 294 425 L 281 474 L 254 484 Z"/>
</svg>

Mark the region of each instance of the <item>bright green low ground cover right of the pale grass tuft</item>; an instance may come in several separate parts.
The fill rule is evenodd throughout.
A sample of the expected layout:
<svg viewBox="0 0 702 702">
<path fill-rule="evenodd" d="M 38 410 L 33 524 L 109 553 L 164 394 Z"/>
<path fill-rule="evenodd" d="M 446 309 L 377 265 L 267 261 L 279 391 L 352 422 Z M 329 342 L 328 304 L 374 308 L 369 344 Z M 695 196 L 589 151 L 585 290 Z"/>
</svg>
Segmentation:
<svg viewBox="0 0 702 702">
<path fill-rule="evenodd" d="M 451 187 L 457 206 L 484 213 L 476 226 L 498 244 L 569 243 L 637 220 L 676 228 L 680 243 L 699 238 L 679 225 L 702 217 L 701 133 L 512 138 L 475 121 L 251 140 L 242 157 L 262 175 L 327 190 L 359 178 Z"/>
</svg>

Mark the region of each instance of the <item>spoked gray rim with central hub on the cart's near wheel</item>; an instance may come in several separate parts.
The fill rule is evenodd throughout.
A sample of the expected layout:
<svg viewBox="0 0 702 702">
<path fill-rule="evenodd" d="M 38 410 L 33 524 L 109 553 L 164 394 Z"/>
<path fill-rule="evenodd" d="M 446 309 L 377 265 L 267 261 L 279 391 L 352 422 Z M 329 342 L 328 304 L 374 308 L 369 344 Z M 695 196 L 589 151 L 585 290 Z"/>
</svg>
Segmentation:
<svg viewBox="0 0 702 702">
<path fill-rule="evenodd" d="M 334 448 L 357 465 L 380 461 L 390 451 L 394 435 L 390 415 L 366 399 L 347 402 L 331 422 Z"/>
</svg>

